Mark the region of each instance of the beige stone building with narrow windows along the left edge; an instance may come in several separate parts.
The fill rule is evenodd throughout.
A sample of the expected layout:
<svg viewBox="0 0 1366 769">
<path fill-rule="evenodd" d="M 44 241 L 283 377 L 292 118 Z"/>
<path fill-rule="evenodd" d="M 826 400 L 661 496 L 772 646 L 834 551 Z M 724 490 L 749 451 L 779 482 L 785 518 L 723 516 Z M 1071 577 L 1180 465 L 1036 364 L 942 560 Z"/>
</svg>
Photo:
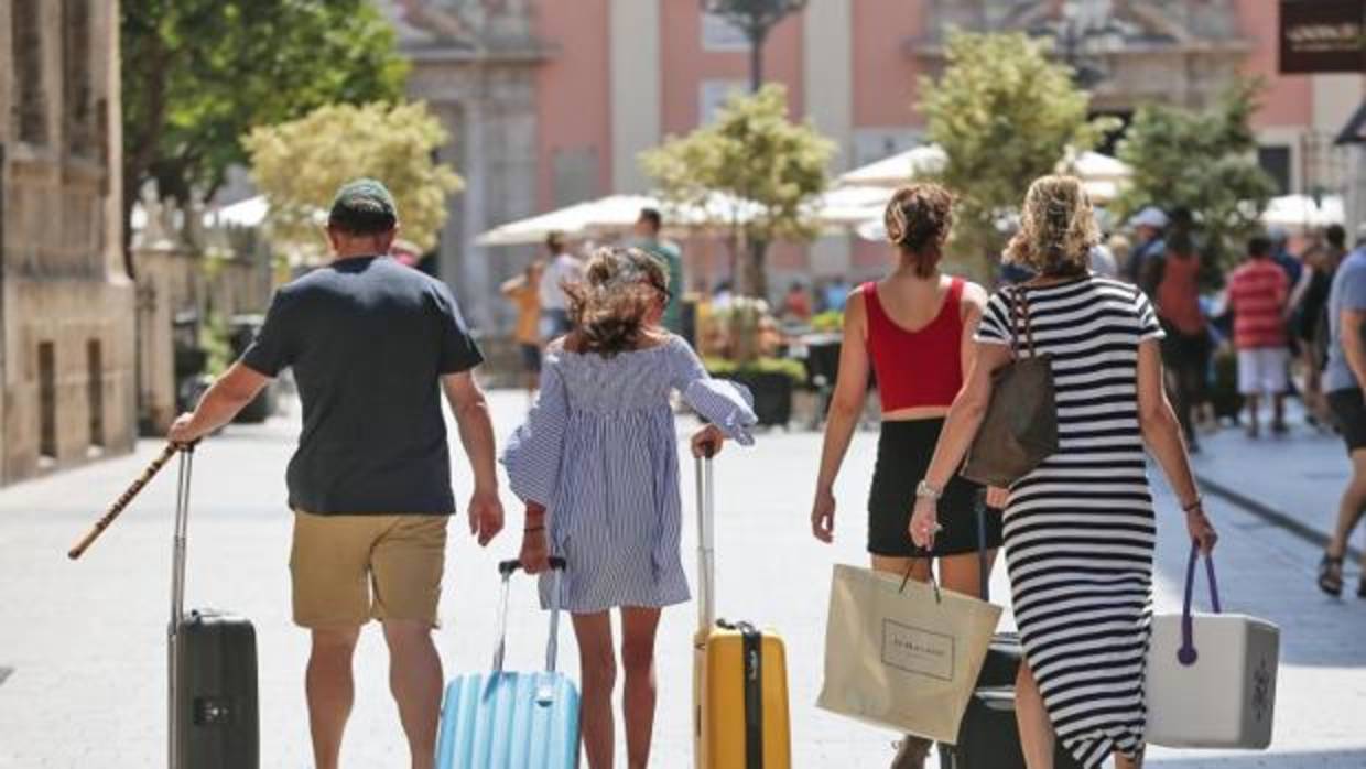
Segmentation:
<svg viewBox="0 0 1366 769">
<path fill-rule="evenodd" d="M 119 4 L 0 3 L 0 482 L 130 451 Z"/>
</svg>

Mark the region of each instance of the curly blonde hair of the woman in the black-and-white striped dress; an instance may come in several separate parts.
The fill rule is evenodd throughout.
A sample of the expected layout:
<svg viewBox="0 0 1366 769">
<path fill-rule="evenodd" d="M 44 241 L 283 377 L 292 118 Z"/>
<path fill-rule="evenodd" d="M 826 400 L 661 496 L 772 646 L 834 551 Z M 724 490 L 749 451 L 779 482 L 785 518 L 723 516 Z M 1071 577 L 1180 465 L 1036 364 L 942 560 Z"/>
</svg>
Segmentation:
<svg viewBox="0 0 1366 769">
<path fill-rule="evenodd" d="M 1101 242 L 1086 187 L 1075 176 L 1041 176 L 1024 195 L 1020 229 L 1005 247 L 1005 261 L 1037 275 L 1078 275 L 1090 266 Z"/>
</svg>

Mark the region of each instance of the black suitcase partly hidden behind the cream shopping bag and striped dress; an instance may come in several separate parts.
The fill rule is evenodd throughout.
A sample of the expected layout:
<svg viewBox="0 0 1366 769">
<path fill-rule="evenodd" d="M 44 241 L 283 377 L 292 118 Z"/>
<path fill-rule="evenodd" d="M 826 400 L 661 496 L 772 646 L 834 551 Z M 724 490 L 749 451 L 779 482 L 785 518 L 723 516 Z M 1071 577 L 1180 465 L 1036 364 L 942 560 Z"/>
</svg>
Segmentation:
<svg viewBox="0 0 1366 769">
<path fill-rule="evenodd" d="M 982 492 L 985 494 L 985 492 Z M 982 600 L 989 600 L 986 571 L 986 503 L 977 499 L 977 550 L 981 559 Z M 967 701 L 956 744 L 940 743 L 941 769 L 1024 769 L 1019 724 L 1015 721 L 1015 675 L 1024 652 L 1014 632 L 997 632 L 977 676 L 977 690 Z M 1055 769 L 1081 769 L 1061 743 L 1053 751 Z"/>
</svg>

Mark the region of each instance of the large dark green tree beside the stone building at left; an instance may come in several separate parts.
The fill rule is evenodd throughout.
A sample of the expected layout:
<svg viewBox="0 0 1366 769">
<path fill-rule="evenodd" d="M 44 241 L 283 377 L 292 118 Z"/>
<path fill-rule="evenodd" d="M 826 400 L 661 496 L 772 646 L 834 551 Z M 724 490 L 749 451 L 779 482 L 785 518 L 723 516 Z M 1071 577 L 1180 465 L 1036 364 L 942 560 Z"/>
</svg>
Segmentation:
<svg viewBox="0 0 1366 769">
<path fill-rule="evenodd" d="M 407 64 L 369 0 L 120 7 L 124 223 L 149 179 L 182 202 L 212 194 L 246 160 L 240 137 L 254 126 L 403 94 Z"/>
</svg>

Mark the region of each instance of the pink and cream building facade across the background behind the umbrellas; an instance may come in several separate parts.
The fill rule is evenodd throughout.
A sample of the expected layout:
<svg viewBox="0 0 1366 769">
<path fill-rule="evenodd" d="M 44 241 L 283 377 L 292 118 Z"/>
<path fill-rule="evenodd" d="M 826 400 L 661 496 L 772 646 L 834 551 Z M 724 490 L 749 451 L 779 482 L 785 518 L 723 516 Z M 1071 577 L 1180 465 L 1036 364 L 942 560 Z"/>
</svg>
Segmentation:
<svg viewBox="0 0 1366 769">
<path fill-rule="evenodd" d="M 645 191 L 638 154 L 705 123 L 749 82 L 744 37 L 697 0 L 376 1 L 414 61 L 411 96 L 444 116 L 445 156 L 470 182 L 451 198 L 441 275 L 478 325 L 507 322 L 496 280 L 535 251 L 478 249 L 482 229 Z M 1261 76 L 1254 128 L 1283 191 L 1347 183 L 1332 137 L 1366 79 L 1280 75 L 1274 0 L 817 0 L 775 27 L 764 72 L 787 86 L 795 116 L 836 141 L 837 173 L 923 139 L 919 81 L 943 67 L 949 25 L 1072 46 L 1063 53 L 1096 75 L 1096 111 L 1120 117 L 1147 101 L 1199 107 L 1238 74 Z M 885 258 L 839 239 L 780 249 L 772 283 L 872 275 Z"/>
</svg>

